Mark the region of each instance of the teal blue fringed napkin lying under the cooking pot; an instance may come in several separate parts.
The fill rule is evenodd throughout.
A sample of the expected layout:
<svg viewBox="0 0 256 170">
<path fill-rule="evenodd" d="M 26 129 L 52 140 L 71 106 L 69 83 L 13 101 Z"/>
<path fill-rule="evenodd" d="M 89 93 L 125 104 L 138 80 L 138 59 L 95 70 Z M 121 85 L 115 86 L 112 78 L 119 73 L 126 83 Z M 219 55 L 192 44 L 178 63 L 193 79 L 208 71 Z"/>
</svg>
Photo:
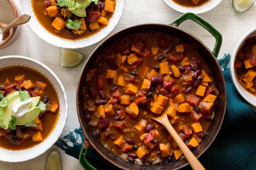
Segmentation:
<svg viewBox="0 0 256 170">
<path fill-rule="evenodd" d="M 227 89 L 227 109 L 220 132 L 207 151 L 199 158 L 205 169 L 256 169 L 256 112 L 237 93 L 232 84 L 229 68 L 230 55 L 219 60 Z M 60 138 L 55 145 L 66 154 L 79 158 L 84 135 L 81 128 Z M 69 146 L 69 144 L 73 146 Z M 117 169 L 89 148 L 86 159 L 98 170 Z M 183 170 L 191 169 L 188 165 Z"/>
</svg>

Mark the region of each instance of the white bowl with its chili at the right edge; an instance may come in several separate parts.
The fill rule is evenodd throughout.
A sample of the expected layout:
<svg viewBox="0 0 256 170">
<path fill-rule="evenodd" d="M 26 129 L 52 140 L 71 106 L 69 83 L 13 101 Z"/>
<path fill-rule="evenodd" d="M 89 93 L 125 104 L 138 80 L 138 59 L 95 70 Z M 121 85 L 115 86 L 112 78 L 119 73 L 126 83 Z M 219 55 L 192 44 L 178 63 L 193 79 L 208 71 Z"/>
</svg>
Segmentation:
<svg viewBox="0 0 256 170">
<path fill-rule="evenodd" d="M 237 92 L 256 107 L 256 28 L 236 44 L 230 59 L 230 74 Z"/>
</svg>

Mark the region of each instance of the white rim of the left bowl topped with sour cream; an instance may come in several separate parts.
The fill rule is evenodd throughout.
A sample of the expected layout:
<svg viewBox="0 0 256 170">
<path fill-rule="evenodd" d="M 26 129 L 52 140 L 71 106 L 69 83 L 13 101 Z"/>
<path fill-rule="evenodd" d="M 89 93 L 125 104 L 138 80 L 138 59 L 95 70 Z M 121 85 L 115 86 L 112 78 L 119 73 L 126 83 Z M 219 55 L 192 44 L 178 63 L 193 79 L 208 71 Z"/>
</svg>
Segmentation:
<svg viewBox="0 0 256 170">
<path fill-rule="evenodd" d="M 24 57 L 24 56 L 16 56 L 16 55 L 13 55 L 13 56 L 3 56 L 3 57 L 0 57 L 0 61 L 2 60 L 2 59 L 8 59 L 8 58 L 21 58 L 21 59 L 25 59 L 25 60 L 29 60 L 29 61 L 32 61 L 32 62 L 34 62 L 34 63 L 36 63 L 36 64 L 38 64 L 38 65 L 40 65 L 40 66 L 42 66 L 42 67 L 44 67 L 44 69 L 46 69 L 47 71 L 49 71 L 49 73 L 56 79 L 56 81 L 57 81 L 57 83 L 59 84 L 59 86 L 60 86 L 60 88 L 61 88 L 61 91 L 63 92 L 63 96 L 64 96 L 64 99 L 65 99 L 65 109 L 66 109 L 66 112 L 64 112 L 64 121 L 63 122 L 60 122 L 60 124 L 61 124 L 61 126 L 59 127 L 59 129 L 61 129 L 61 130 L 59 130 L 58 129 L 58 131 L 59 131 L 59 133 L 57 133 L 57 138 L 56 138 L 56 140 L 53 140 L 52 142 L 51 142 L 51 144 L 52 145 L 48 145 L 47 147 L 44 147 L 44 149 L 42 149 L 40 152 L 38 152 L 38 154 L 34 154 L 34 155 L 32 155 L 32 156 L 30 156 L 29 158 L 23 158 L 23 159 L 20 159 L 20 160 L 7 160 L 7 159 L 1 159 L 0 161 L 4 161 L 4 162 L 24 162 L 24 161 L 28 161 L 28 160 L 31 160 L 31 159 L 33 159 L 33 158 L 36 158 L 36 157 L 38 157 L 38 156 L 40 156 L 40 155 L 42 155 L 44 152 L 46 152 L 49 148 L 51 148 L 51 146 L 53 146 L 55 143 L 56 143 L 56 141 L 59 139 L 59 137 L 60 137 L 60 135 L 61 135 L 61 133 L 63 132 L 63 130 L 64 130 L 64 127 L 65 127 L 65 125 L 66 125 L 66 122 L 67 122 L 67 116 L 68 116 L 68 102 L 67 102 L 67 95 L 66 95 L 66 92 L 65 92 L 65 89 L 64 89 L 64 86 L 63 86 L 63 84 L 61 83 L 61 81 L 59 80 L 59 78 L 57 77 L 57 75 L 55 75 L 55 73 L 51 70 L 51 69 L 49 69 L 49 67 L 47 67 L 46 65 L 44 65 L 43 63 L 41 63 L 41 62 L 39 62 L 39 61 L 37 61 L 37 60 L 35 60 L 35 59 L 32 59 L 32 58 L 29 58 L 29 57 Z M 22 65 L 22 64 L 21 64 Z M 64 110 L 64 109 L 63 109 Z M 61 113 L 60 113 L 61 114 Z M 61 115 L 60 115 L 61 116 Z M 56 125 L 57 126 L 57 125 Z M 56 128 L 56 127 L 55 127 Z M 48 139 L 49 139 L 49 137 L 50 137 L 50 135 L 44 140 L 44 141 L 47 141 Z M 56 136 L 53 136 L 53 137 L 56 137 Z M 38 144 L 38 145 L 40 145 L 40 144 Z M 35 146 L 37 146 L 37 145 L 35 145 Z M 34 147 L 35 147 L 34 146 Z M 32 147 L 33 148 L 33 147 Z M 2 148 L 3 149 L 3 148 Z M 28 149 L 30 149 L 30 148 L 28 148 Z M 28 149 L 25 149 L 25 150 L 18 150 L 18 151 L 26 151 L 26 150 L 28 150 Z M 3 150 L 6 150 L 6 149 L 3 149 Z M 10 151 L 10 150 L 8 150 L 8 151 Z M 13 151 L 13 153 L 15 153 L 15 151 Z"/>
</svg>

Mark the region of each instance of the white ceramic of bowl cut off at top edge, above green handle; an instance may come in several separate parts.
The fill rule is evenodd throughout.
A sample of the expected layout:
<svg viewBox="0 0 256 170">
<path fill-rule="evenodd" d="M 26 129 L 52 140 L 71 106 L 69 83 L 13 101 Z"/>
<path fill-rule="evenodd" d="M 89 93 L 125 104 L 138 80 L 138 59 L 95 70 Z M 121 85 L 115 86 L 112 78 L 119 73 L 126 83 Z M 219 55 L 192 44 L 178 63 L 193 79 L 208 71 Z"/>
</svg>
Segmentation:
<svg viewBox="0 0 256 170">
<path fill-rule="evenodd" d="M 193 12 L 195 14 L 203 14 L 203 13 L 208 12 L 208 11 L 212 10 L 213 8 L 217 7 L 217 5 L 219 5 L 219 3 L 222 0 L 210 0 L 205 5 L 200 6 L 200 7 L 195 7 L 195 8 L 183 7 L 181 5 L 176 4 L 172 0 L 162 0 L 162 1 L 168 7 L 172 8 L 173 10 L 176 10 L 177 12 L 180 12 L 180 13 Z M 188 1 L 190 1 L 190 0 L 188 0 Z"/>
</svg>

